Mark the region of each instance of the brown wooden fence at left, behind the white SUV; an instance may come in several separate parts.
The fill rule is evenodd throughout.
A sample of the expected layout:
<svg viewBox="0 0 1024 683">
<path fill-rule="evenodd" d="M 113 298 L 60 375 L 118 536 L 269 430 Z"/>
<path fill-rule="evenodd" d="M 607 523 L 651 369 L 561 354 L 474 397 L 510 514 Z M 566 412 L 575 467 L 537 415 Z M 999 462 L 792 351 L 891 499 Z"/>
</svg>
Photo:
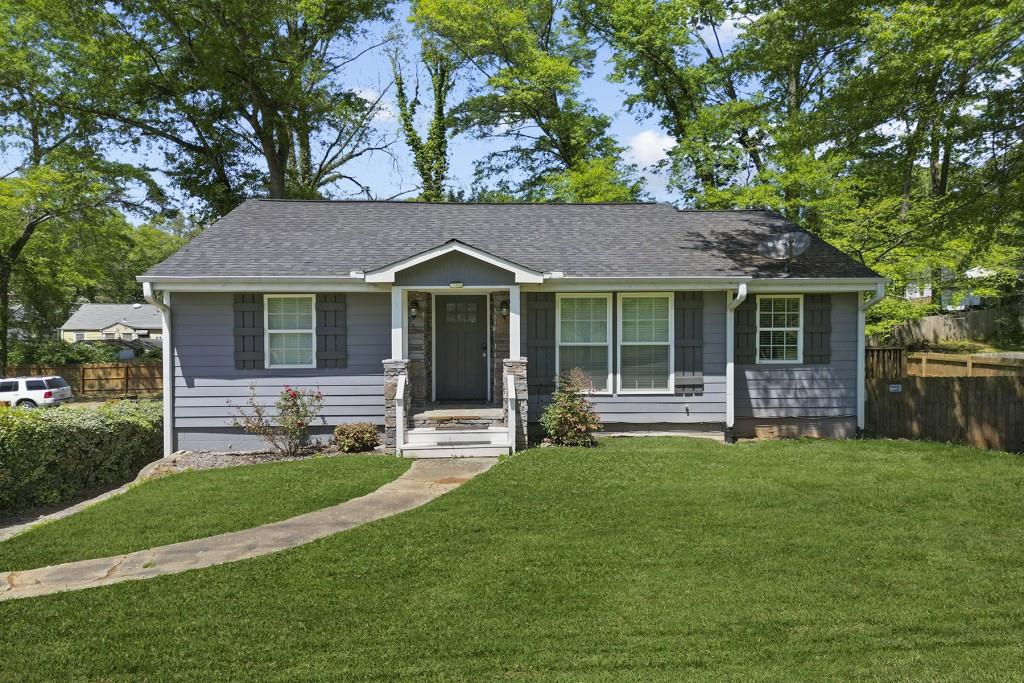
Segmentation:
<svg viewBox="0 0 1024 683">
<path fill-rule="evenodd" d="M 59 375 L 76 396 L 137 396 L 163 390 L 163 367 L 159 362 L 90 362 L 81 366 L 16 366 L 7 377 Z"/>
</svg>

